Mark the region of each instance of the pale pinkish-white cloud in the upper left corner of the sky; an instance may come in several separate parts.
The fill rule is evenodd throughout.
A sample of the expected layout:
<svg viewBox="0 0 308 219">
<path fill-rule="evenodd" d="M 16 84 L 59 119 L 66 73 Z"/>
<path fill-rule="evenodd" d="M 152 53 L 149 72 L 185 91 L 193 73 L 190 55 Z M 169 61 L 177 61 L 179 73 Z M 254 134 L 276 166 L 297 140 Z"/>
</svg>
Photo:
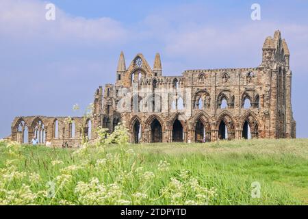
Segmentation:
<svg viewBox="0 0 308 219">
<path fill-rule="evenodd" d="M 86 19 L 72 17 L 56 8 L 55 21 L 47 21 L 47 3 L 37 0 L 0 1 L 0 33 L 12 38 L 36 40 L 86 40 L 86 42 L 118 42 L 127 31 L 111 18 Z"/>
</svg>

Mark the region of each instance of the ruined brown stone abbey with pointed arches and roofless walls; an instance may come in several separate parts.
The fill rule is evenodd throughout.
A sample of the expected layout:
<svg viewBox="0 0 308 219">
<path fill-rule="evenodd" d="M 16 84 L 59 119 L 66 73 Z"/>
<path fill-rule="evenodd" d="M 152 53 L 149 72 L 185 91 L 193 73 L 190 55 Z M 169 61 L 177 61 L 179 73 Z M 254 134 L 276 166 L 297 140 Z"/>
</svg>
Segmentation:
<svg viewBox="0 0 308 219">
<path fill-rule="evenodd" d="M 95 140 L 97 127 L 129 129 L 131 143 L 212 142 L 218 139 L 296 138 L 290 52 L 280 31 L 266 38 L 256 68 L 185 70 L 163 76 L 157 53 L 153 68 L 142 54 L 126 67 L 120 54 L 116 83 L 99 87 L 90 118 L 19 116 L 11 139 L 79 146 Z"/>
</svg>

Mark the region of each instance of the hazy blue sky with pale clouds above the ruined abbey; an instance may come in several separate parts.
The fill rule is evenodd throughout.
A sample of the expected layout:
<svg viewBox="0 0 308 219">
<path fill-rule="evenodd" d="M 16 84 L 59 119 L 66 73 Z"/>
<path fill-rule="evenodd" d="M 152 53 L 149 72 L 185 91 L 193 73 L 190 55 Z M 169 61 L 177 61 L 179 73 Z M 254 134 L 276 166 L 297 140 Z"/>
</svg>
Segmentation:
<svg viewBox="0 0 308 219">
<path fill-rule="evenodd" d="M 45 5 L 56 5 L 46 21 Z M 251 5 L 261 5 L 261 21 Z M 278 4 L 279 3 L 279 4 Z M 120 51 L 164 75 L 185 69 L 255 67 L 266 36 L 280 29 L 291 53 L 298 138 L 308 138 L 308 1 L 0 1 L 0 138 L 14 116 L 75 116 L 115 80 Z"/>
</svg>

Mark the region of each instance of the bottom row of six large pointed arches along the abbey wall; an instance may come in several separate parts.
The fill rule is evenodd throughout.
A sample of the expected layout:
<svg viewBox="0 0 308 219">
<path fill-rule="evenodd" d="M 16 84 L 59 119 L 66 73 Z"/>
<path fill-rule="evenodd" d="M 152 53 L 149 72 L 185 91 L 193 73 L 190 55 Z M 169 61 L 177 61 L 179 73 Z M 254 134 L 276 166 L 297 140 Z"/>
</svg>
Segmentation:
<svg viewBox="0 0 308 219">
<path fill-rule="evenodd" d="M 152 116 L 150 122 L 144 125 L 140 118 L 131 120 L 131 143 L 157 142 L 211 142 L 215 140 L 252 139 L 259 138 L 258 122 L 254 116 L 242 119 L 237 124 L 234 119 L 225 114 L 216 122 L 210 122 L 205 116 L 198 116 L 192 123 L 176 118 L 162 122 L 159 116 Z M 190 125 L 192 124 L 192 125 Z"/>
</svg>

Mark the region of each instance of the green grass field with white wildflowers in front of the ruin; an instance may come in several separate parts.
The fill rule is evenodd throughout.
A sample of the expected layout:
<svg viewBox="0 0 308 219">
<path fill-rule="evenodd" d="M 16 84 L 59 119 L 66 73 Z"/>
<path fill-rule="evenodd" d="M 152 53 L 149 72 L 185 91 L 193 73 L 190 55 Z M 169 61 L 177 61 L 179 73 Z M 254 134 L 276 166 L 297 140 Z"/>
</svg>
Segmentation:
<svg viewBox="0 0 308 219">
<path fill-rule="evenodd" d="M 308 204 L 307 139 L 76 151 L 0 142 L 0 204 Z"/>
</svg>

